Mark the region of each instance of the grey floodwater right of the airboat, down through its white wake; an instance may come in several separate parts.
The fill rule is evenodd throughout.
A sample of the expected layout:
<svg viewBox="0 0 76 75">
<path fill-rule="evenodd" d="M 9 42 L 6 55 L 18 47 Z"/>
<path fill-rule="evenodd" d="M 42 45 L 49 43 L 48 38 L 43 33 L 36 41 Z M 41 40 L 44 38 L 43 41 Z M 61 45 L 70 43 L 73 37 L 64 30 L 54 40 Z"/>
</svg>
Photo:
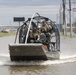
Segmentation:
<svg viewBox="0 0 76 75">
<path fill-rule="evenodd" d="M 61 37 L 61 59 L 76 57 L 76 38 Z"/>
</svg>

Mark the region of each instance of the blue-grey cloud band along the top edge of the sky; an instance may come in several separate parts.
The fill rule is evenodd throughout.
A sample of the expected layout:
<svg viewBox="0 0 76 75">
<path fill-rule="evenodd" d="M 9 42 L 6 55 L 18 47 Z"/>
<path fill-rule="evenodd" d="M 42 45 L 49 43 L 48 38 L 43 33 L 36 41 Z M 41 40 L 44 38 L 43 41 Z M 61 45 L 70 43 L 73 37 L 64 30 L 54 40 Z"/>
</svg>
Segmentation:
<svg viewBox="0 0 76 75">
<path fill-rule="evenodd" d="M 27 5 L 32 5 L 32 6 L 39 6 L 39 5 L 55 5 L 59 4 L 60 0 L 0 0 L 0 5 L 6 5 L 6 6 L 27 6 Z"/>
</svg>

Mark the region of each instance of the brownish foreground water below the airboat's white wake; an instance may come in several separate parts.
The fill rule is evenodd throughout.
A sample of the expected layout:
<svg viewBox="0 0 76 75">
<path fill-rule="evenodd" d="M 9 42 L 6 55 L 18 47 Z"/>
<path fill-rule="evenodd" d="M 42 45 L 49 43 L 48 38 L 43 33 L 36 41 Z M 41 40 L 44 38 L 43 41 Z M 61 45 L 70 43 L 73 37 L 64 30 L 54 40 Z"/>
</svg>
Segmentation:
<svg viewBox="0 0 76 75">
<path fill-rule="evenodd" d="M 0 75 L 76 75 L 76 62 L 48 66 L 0 66 Z"/>
</svg>

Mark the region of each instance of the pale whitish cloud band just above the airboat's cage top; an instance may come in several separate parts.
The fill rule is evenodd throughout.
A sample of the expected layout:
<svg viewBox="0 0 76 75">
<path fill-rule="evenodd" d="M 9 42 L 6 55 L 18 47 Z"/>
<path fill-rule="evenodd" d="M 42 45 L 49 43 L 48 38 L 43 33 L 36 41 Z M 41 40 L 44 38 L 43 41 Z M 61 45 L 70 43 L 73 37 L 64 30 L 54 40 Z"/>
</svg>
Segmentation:
<svg viewBox="0 0 76 75">
<path fill-rule="evenodd" d="M 0 14 L 9 15 L 30 15 L 35 12 L 42 14 L 56 14 L 59 6 L 21 6 L 21 7 L 1 7 Z"/>
</svg>

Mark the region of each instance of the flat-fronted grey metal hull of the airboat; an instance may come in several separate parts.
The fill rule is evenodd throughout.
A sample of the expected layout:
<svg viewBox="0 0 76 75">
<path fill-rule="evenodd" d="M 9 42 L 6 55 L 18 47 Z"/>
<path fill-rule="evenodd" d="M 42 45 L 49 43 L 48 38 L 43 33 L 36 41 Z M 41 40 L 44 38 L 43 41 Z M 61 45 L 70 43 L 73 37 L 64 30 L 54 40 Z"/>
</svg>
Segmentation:
<svg viewBox="0 0 76 75">
<path fill-rule="evenodd" d="M 59 51 L 48 51 L 42 44 L 10 44 L 11 61 L 59 59 Z"/>
</svg>

